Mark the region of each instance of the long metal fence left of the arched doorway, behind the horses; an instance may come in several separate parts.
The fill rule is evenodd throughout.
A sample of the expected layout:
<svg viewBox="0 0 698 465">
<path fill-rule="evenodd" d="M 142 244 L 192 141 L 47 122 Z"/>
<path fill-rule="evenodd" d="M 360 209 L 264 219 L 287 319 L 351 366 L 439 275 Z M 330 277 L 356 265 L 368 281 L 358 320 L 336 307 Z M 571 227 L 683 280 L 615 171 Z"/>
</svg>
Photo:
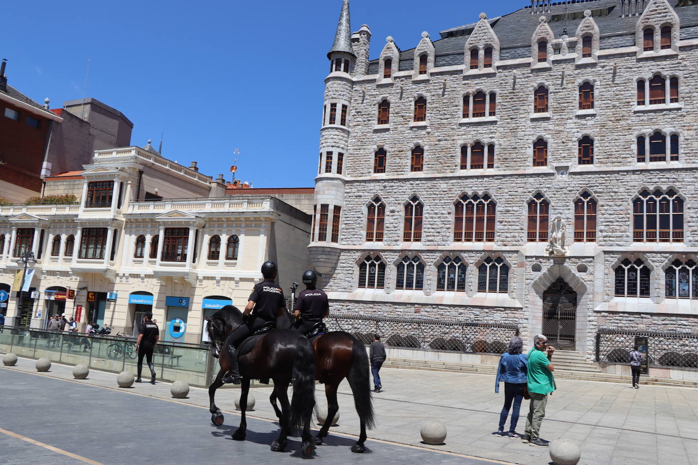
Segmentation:
<svg viewBox="0 0 698 465">
<path fill-rule="evenodd" d="M 364 344 L 380 335 L 383 344 L 408 349 L 468 353 L 504 353 L 519 327 L 499 323 L 467 323 L 454 319 L 374 317 L 330 314 L 327 329 L 351 333 Z"/>
</svg>

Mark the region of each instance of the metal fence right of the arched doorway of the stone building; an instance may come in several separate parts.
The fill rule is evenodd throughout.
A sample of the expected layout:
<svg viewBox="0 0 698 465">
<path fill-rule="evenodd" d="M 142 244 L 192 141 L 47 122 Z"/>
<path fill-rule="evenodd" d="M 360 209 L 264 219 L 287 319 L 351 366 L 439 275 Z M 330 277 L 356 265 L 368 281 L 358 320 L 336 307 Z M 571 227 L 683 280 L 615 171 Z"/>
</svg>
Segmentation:
<svg viewBox="0 0 698 465">
<path fill-rule="evenodd" d="M 635 337 L 648 338 L 648 362 L 653 367 L 698 368 L 698 333 L 599 328 L 596 333 L 596 361 L 630 363 L 628 354 Z"/>
</svg>

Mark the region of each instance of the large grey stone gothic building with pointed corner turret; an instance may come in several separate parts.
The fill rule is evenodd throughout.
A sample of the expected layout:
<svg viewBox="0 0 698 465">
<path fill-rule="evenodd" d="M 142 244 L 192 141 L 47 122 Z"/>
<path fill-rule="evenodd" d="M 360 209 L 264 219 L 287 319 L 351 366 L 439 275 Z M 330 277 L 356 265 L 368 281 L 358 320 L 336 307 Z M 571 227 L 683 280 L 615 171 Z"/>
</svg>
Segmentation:
<svg viewBox="0 0 698 465">
<path fill-rule="evenodd" d="M 698 5 L 530 6 L 401 50 L 350 33 L 325 78 L 309 246 L 332 308 L 698 328 Z M 557 221 L 556 221 L 557 220 Z"/>
</svg>

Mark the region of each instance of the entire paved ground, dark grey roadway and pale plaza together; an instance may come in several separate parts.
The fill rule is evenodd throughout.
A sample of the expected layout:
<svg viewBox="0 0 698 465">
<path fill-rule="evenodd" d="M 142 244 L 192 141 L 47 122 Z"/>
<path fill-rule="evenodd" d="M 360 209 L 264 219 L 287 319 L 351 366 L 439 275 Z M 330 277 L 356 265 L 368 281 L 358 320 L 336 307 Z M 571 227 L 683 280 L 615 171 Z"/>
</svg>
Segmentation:
<svg viewBox="0 0 698 465">
<path fill-rule="evenodd" d="M 218 390 L 216 403 L 228 413 L 223 427 L 216 428 L 209 423 L 207 409 L 200 408 L 208 405 L 206 390 L 192 388 L 188 399 L 175 402 L 168 383 L 135 384 L 123 390 L 115 387 L 114 374 L 91 371 L 87 380 L 66 381 L 72 379 L 70 372 L 71 367 L 54 364 L 51 372 L 36 374 L 34 360 L 27 359 L 20 359 L 17 367 L 0 369 L 0 428 L 103 464 L 127 463 L 141 455 L 150 463 L 230 463 L 232 457 L 243 456 L 245 463 L 276 463 L 288 461 L 289 455 L 299 457 L 297 439 L 290 440 L 288 453 L 269 451 L 277 431 L 273 422 L 262 420 L 274 418 L 267 402 L 270 388 L 252 390 L 257 402 L 251 415 L 256 419 L 248 422 L 249 441 L 237 443 L 230 440 L 239 422 L 230 413 L 237 389 Z M 348 385 L 343 383 L 339 426 L 330 430 L 329 445 L 318 448 L 317 459 L 487 463 L 467 457 L 474 456 L 516 464 L 550 462 L 547 448 L 491 434 L 503 402 L 503 395 L 493 392 L 493 376 L 406 369 L 383 369 L 381 375 L 385 390 L 373 395 L 378 425 L 369 432 L 369 438 L 379 441 L 366 443 L 370 453 L 349 452 L 358 419 Z M 669 458 L 674 464 L 698 464 L 697 389 L 642 386 L 634 390 L 630 383 L 567 380 L 557 381 L 557 386 L 541 436 L 581 443 L 581 464 L 663 464 Z M 321 385 L 316 394 L 318 403 L 324 404 Z M 522 413 L 527 409 L 524 401 Z M 445 422 L 445 445 L 420 443 L 419 428 L 427 418 Z M 523 431 L 525 421 L 524 414 L 517 431 Z M 333 435 L 333 431 L 344 434 Z M 145 443 L 150 445 L 144 447 Z M 0 434 L 1 446 L 12 451 L 6 456 L 12 457 L 8 463 L 24 463 L 27 457 L 34 463 L 79 463 L 7 433 Z M 226 456 L 221 455 L 224 452 Z"/>
</svg>

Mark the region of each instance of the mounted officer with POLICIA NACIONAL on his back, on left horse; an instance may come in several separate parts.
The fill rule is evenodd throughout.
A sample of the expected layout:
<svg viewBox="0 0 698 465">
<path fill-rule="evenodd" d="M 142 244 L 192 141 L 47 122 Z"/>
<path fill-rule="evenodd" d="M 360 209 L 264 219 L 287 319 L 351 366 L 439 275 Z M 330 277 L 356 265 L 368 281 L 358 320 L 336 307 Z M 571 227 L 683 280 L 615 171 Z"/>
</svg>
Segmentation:
<svg viewBox="0 0 698 465">
<path fill-rule="evenodd" d="M 262 264 L 262 276 L 264 276 L 264 281 L 255 284 L 247 301 L 245 311 L 242 314 L 242 324 L 233 330 L 225 340 L 225 345 L 228 346 L 230 370 L 223 377 L 223 383 L 240 383 L 240 372 L 237 368 L 237 346 L 266 323 L 271 322 L 275 326 L 276 318 L 281 317 L 286 311 L 283 291 L 274 282 L 276 264 L 273 261 L 265 261 Z"/>
</svg>

